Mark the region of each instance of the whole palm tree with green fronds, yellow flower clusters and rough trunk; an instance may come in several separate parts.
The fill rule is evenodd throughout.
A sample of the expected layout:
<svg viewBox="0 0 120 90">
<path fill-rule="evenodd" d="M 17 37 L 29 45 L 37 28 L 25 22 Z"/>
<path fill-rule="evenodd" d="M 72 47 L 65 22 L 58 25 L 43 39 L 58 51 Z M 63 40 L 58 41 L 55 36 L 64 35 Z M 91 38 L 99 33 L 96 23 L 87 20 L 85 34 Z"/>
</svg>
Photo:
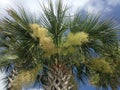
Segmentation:
<svg viewBox="0 0 120 90">
<path fill-rule="evenodd" d="M 13 65 L 10 88 L 41 82 L 45 90 L 73 90 L 73 72 L 96 88 L 120 85 L 120 53 L 116 24 L 97 16 L 70 16 L 61 0 L 41 6 L 40 18 L 18 7 L 1 22 L 6 53 L 1 66 Z M 113 50 L 113 51 L 112 51 Z M 9 58 L 8 56 L 9 55 Z M 16 77 L 14 77 L 17 74 Z M 114 83 L 113 83 L 114 82 Z"/>
</svg>

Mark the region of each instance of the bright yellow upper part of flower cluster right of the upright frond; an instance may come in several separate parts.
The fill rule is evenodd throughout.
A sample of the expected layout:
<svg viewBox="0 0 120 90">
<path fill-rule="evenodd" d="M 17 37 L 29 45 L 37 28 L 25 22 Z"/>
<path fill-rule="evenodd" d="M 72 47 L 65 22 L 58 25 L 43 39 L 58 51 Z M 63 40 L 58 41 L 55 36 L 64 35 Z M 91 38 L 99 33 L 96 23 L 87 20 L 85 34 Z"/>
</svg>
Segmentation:
<svg viewBox="0 0 120 90">
<path fill-rule="evenodd" d="M 85 32 L 69 33 L 65 46 L 82 45 L 88 42 L 88 34 Z"/>
</svg>

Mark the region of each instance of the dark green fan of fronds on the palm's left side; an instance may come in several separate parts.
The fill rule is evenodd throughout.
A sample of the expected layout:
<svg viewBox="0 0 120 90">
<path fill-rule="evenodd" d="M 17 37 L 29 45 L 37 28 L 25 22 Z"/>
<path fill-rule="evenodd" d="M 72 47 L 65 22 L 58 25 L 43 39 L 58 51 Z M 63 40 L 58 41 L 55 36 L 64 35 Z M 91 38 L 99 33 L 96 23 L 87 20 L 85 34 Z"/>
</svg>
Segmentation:
<svg viewBox="0 0 120 90">
<path fill-rule="evenodd" d="M 1 26 L 2 32 L 6 36 L 5 43 L 9 46 L 12 53 L 22 58 L 20 60 L 21 64 L 28 61 L 35 64 L 40 58 L 42 51 L 39 48 L 38 40 L 34 40 L 31 36 L 32 31 L 29 25 L 32 23 L 39 24 L 39 20 L 20 7 L 18 7 L 18 11 L 10 9 L 7 12 L 10 18 L 4 17 Z M 16 62 L 19 62 L 19 59 Z"/>
</svg>

